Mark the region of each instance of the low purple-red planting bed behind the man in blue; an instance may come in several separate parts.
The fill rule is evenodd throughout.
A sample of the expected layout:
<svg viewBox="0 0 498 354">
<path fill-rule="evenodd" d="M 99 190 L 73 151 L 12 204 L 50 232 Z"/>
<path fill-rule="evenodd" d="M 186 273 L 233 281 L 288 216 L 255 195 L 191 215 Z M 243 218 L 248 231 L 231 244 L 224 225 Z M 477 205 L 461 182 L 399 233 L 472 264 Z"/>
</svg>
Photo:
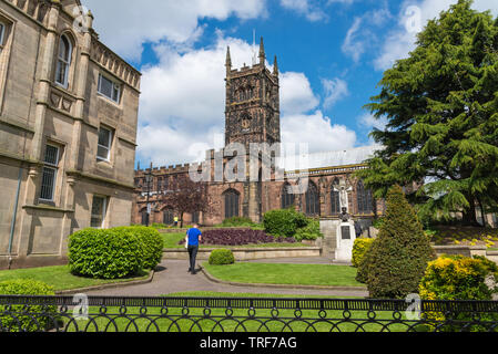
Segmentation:
<svg viewBox="0 0 498 354">
<path fill-rule="evenodd" d="M 182 239 L 179 244 L 183 244 Z M 217 229 L 207 230 L 202 233 L 201 244 L 213 246 L 244 246 L 262 243 L 296 243 L 294 238 L 275 238 L 262 230 L 250 229 Z"/>
</svg>

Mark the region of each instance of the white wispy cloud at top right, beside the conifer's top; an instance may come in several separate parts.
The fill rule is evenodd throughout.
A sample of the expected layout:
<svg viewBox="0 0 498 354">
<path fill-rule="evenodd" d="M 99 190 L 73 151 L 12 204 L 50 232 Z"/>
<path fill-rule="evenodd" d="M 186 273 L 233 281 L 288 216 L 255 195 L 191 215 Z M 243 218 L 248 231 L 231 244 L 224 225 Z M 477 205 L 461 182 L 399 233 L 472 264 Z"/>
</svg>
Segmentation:
<svg viewBox="0 0 498 354">
<path fill-rule="evenodd" d="M 374 60 L 375 69 L 380 71 L 389 69 L 397 60 L 407 58 L 415 49 L 417 31 L 413 29 L 417 25 L 413 25 L 414 21 L 419 22 L 419 29 L 423 29 L 428 20 L 437 18 L 441 11 L 448 10 L 456 2 L 457 0 L 406 0 L 402 4 L 396 29 L 387 34 L 380 54 Z M 407 11 L 413 7 L 418 11 Z M 498 14 L 496 0 L 475 0 L 472 8 L 478 11 L 491 10 L 494 15 Z"/>
</svg>

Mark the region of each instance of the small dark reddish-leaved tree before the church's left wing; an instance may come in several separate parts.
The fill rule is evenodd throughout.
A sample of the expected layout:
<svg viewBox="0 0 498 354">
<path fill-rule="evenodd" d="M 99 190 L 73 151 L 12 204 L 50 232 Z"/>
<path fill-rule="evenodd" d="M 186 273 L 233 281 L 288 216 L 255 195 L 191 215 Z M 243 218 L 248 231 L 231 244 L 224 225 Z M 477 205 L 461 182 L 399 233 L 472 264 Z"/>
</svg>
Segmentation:
<svg viewBox="0 0 498 354">
<path fill-rule="evenodd" d="M 209 211 L 207 184 L 193 181 L 189 175 L 179 175 L 171 184 L 171 190 L 163 196 L 163 202 L 180 216 L 180 227 L 183 227 L 183 216 Z"/>
</svg>

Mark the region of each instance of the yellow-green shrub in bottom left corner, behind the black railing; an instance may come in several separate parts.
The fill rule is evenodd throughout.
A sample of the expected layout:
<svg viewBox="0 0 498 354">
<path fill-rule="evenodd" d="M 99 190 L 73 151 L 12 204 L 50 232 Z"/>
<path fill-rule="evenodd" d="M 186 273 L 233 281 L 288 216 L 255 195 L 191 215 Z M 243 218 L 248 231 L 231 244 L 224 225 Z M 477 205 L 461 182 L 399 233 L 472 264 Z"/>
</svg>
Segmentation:
<svg viewBox="0 0 498 354">
<path fill-rule="evenodd" d="M 54 295 L 53 288 L 35 280 L 18 279 L 0 282 L 0 294 L 2 295 Z M 57 306 L 12 305 L 11 314 L 4 314 L 7 305 L 0 306 L 0 332 L 37 332 L 53 327 L 58 321 Z"/>
</svg>

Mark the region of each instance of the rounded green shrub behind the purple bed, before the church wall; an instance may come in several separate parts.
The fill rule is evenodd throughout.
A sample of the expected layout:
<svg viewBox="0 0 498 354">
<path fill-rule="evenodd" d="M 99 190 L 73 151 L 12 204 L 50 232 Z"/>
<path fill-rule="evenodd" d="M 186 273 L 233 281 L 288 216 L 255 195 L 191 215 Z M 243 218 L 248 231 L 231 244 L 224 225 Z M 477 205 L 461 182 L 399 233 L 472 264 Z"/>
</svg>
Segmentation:
<svg viewBox="0 0 498 354">
<path fill-rule="evenodd" d="M 306 216 L 294 209 L 271 210 L 263 217 L 265 231 L 273 236 L 293 237 L 307 223 Z"/>
</svg>

